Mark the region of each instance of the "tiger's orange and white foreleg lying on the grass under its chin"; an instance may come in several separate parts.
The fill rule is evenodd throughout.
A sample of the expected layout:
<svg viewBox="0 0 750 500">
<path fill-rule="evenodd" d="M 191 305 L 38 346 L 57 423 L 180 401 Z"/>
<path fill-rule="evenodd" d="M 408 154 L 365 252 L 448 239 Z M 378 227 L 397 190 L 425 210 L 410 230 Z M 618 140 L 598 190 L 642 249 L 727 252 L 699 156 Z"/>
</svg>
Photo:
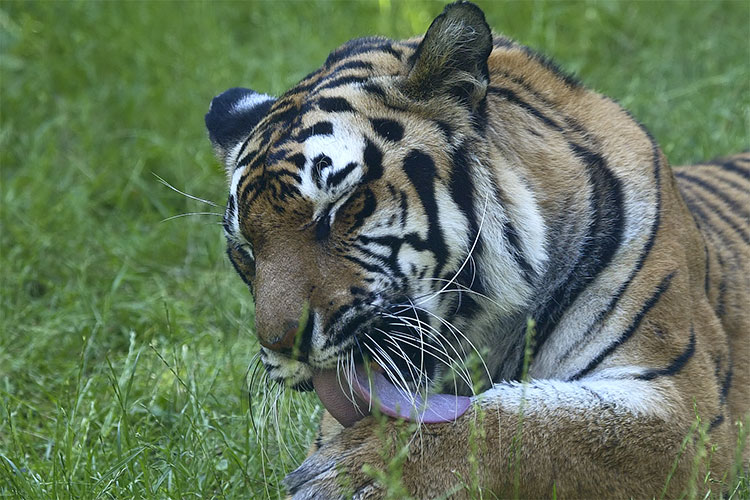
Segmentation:
<svg viewBox="0 0 750 500">
<path fill-rule="evenodd" d="M 498 384 L 458 421 L 423 427 L 402 477 L 416 498 L 469 497 L 475 480 L 501 498 L 673 497 L 703 477 L 694 415 L 667 378 Z M 362 466 L 387 470 L 395 455 L 402 425 L 383 425 L 368 418 L 323 444 L 287 476 L 294 498 L 341 498 L 342 484 L 355 498 L 382 496 Z M 726 464 L 717 455 L 712 466 Z"/>
</svg>

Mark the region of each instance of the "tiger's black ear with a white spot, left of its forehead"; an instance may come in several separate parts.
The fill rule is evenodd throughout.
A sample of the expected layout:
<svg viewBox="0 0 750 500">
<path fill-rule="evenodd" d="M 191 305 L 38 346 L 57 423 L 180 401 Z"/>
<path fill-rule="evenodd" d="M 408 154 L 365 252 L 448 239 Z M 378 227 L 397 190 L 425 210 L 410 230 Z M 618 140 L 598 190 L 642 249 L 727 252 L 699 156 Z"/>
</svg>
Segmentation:
<svg viewBox="0 0 750 500">
<path fill-rule="evenodd" d="M 268 113 L 275 97 L 235 87 L 211 100 L 206 113 L 208 137 L 219 160 L 231 171 L 239 146 Z"/>
</svg>

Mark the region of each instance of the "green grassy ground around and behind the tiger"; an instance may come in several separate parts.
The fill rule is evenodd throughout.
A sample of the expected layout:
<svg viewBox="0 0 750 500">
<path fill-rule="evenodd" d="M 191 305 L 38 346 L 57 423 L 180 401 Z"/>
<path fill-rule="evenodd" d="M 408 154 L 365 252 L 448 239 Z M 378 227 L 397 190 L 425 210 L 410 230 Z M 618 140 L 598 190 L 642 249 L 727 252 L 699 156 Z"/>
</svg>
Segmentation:
<svg viewBox="0 0 750 500">
<path fill-rule="evenodd" d="M 748 147 L 747 1 L 482 6 L 672 161 Z M 423 32 L 441 8 L 0 2 L 0 496 L 281 494 L 319 409 L 272 394 L 251 416 L 253 306 L 218 219 L 160 222 L 206 207 L 152 174 L 221 202 L 214 94 L 282 92 L 339 43 Z"/>
</svg>

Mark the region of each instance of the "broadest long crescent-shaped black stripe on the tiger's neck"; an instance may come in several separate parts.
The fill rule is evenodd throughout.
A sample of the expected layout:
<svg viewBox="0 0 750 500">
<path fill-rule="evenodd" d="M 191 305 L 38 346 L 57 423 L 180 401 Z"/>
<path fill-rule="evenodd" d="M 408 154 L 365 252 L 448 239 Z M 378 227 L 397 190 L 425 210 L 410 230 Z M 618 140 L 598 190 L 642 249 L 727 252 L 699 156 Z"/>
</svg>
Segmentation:
<svg viewBox="0 0 750 500">
<path fill-rule="evenodd" d="M 620 181 L 608 169 L 602 156 L 577 144 L 570 146 L 574 154 L 584 162 L 589 176 L 592 220 L 578 251 L 577 262 L 534 314 L 538 321 L 534 354 L 539 352 L 550 337 L 565 311 L 610 265 L 622 243 L 625 227 Z"/>
</svg>

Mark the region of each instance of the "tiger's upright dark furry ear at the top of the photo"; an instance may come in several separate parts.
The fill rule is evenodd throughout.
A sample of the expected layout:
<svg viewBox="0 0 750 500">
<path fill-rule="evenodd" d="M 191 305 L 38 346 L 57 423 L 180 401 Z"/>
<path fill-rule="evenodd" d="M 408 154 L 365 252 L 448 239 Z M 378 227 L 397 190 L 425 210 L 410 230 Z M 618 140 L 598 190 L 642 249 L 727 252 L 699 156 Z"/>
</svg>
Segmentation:
<svg viewBox="0 0 750 500">
<path fill-rule="evenodd" d="M 473 107 L 487 94 L 490 52 L 492 32 L 482 10 L 469 2 L 452 3 L 417 47 L 403 90 L 417 100 L 448 93 Z"/>
</svg>

